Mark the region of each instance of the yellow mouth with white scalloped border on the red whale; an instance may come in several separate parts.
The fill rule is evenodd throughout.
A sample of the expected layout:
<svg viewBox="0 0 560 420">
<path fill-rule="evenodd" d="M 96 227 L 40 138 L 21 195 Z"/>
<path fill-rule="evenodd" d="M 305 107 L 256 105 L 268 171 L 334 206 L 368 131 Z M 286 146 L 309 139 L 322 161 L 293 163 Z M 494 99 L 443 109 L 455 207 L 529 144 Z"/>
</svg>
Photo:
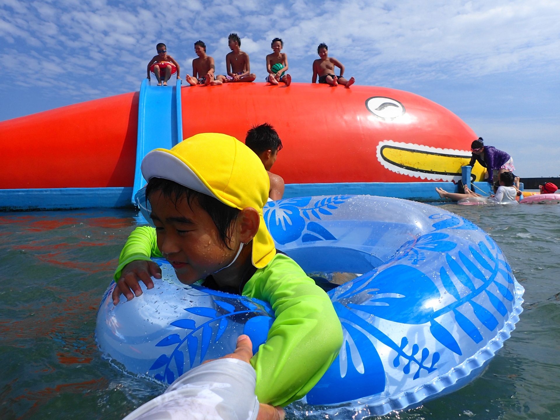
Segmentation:
<svg viewBox="0 0 560 420">
<path fill-rule="evenodd" d="M 377 145 L 377 160 L 390 171 L 433 181 L 460 180 L 461 166 L 468 165 L 471 156 L 470 151 L 392 140 L 384 140 Z M 485 172 L 486 169 L 477 162 L 471 172 L 472 181 L 483 179 Z"/>
</svg>

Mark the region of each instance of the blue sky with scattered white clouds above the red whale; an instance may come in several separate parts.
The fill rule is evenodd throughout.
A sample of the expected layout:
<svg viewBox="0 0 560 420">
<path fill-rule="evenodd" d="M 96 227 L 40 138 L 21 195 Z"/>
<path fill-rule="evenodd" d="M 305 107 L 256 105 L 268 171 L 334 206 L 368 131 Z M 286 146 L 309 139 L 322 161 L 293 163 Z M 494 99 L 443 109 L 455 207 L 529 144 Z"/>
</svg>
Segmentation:
<svg viewBox="0 0 560 420">
<path fill-rule="evenodd" d="M 272 38 L 296 82 L 326 42 L 358 84 L 436 101 L 519 175 L 560 176 L 556 0 L 0 0 L 0 120 L 138 90 L 159 41 L 184 74 L 202 39 L 223 72 L 230 32 L 258 80 Z"/>
</svg>

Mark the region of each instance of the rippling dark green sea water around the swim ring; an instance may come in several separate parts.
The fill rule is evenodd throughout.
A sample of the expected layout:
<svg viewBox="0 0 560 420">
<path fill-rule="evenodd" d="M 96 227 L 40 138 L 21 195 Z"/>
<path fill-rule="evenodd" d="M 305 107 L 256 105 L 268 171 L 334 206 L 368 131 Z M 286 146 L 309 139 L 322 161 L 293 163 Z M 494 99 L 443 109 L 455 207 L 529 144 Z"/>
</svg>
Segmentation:
<svg viewBox="0 0 560 420">
<path fill-rule="evenodd" d="M 380 418 L 560 418 L 560 205 L 444 208 L 500 245 L 525 287 L 524 312 L 477 380 Z M 0 213 L 0 419 L 120 419 L 164 390 L 102 360 L 94 339 L 138 221 L 118 209 Z"/>
</svg>

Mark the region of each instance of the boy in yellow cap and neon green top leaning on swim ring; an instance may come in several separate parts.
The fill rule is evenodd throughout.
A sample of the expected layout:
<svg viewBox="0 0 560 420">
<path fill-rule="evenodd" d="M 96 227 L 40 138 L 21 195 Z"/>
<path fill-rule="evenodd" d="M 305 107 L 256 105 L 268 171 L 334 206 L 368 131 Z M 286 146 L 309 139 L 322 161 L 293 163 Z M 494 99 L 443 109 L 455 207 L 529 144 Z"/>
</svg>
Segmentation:
<svg viewBox="0 0 560 420">
<path fill-rule="evenodd" d="M 263 218 L 269 178 L 259 157 L 225 134 L 197 134 L 144 157 L 142 175 L 156 228 L 130 234 L 115 272 L 128 300 L 161 278 L 164 256 L 185 284 L 270 302 L 276 320 L 251 358 L 260 403 L 286 405 L 319 381 L 342 345 L 326 293 L 291 258 L 276 252 Z M 132 290 L 132 291 L 131 291 Z"/>
</svg>

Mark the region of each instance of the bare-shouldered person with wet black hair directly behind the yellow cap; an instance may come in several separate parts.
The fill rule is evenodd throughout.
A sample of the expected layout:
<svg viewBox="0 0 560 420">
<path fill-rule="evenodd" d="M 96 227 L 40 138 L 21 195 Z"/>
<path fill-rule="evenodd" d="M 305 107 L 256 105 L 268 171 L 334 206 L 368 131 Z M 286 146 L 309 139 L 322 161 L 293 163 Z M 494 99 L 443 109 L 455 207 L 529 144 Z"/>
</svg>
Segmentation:
<svg viewBox="0 0 560 420">
<path fill-rule="evenodd" d="M 270 179 L 268 198 L 271 200 L 282 199 L 284 195 L 284 180 L 280 175 L 270 172 L 272 165 L 276 162 L 278 152 L 282 150 L 282 140 L 278 137 L 274 127 L 268 123 L 255 125 L 255 127 L 252 127 L 247 132 L 245 144 L 256 153 L 256 156 L 263 162 L 264 169 L 268 172 L 268 178 Z"/>
</svg>

